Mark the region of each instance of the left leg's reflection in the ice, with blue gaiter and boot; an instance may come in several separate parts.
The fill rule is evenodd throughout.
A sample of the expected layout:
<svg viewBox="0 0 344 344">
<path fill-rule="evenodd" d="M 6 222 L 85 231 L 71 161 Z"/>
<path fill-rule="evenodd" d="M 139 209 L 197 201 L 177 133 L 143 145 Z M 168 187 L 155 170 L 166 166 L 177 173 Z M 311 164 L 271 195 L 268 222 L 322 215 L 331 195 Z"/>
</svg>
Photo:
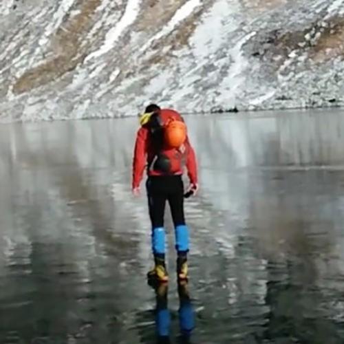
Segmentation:
<svg viewBox="0 0 344 344">
<path fill-rule="evenodd" d="M 169 309 L 167 308 L 167 291 L 168 285 L 166 283 L 159 284 L 155 288 L 155 327 L 158 344 L 170 343 L 169 327 L 171 319 Z"/>
</svg>

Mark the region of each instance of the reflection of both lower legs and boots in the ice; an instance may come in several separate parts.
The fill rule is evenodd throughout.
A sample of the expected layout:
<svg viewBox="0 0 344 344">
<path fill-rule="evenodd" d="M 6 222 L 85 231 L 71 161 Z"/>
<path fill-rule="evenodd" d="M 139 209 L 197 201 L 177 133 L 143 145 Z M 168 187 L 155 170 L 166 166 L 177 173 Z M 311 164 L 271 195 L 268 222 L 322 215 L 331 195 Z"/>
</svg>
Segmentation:
<svg viewBox="0 0 344 344">
<path fill-rule="evenodd" d="M 158 344 L 171 343 L 169 336 L 171 314 L 168 308 L 167 291 L 168 287 L 166 283 L 155 286 L 155 327 Z M 187 344 L 190 341 L 191 333 L 195 327 L 195 319 L 193 305 L 189 296 L 188 283 L 186 281 L 180 281 L 180 283 L 178 283 L 178 295 L 180 300 L 178 310 L 180 343 Z"/>
</svg>

